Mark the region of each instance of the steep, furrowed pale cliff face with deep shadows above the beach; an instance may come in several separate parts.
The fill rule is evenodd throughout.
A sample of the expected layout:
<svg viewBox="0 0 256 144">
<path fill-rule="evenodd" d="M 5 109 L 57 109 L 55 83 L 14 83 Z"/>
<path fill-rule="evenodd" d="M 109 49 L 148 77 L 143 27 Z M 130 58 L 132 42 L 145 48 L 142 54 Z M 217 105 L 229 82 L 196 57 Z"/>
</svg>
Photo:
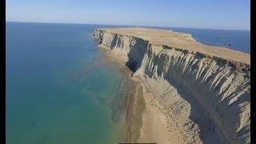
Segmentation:
<svg viewBox="0 0 256 144">
<path fill-rule="evenodd" d="M 217 134 L 223 143 L 250 143 L 250 64 L 104 29 L 94 38 L 127 56 L 134 76 L 146 80 L 185 137 L 198 133 L 190 139 L 208 142 Z"/>
</svg>

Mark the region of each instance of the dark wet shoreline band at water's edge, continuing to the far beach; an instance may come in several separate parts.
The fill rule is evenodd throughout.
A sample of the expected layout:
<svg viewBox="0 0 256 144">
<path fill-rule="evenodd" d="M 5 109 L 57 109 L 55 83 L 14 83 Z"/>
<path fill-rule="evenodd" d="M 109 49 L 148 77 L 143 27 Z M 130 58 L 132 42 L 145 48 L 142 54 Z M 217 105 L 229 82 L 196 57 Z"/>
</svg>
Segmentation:
<svg viewBox="0 0 256 144">
<path fill-rule="evenodd" d="M 140 137 L 140 130 L 142 128 L 142 112 L 145 109 L 144 86 L 138 81 L 138 79 L 130 77 L 132 72 L 125 65 L 126 57 L 122 54 L 115 55 L 110 50 L 98 46 L 98 49 L 102 51 L 103 57 L 107 62 L 113 63 L 120 68 L 123 74 L 127 76 L 127 90 L 126 101 L 124 105 L 126 107 L 126 116 L 124 118 L 123 135 L 121 138 L 124 142 L 138 142 Z"/>
</svg>

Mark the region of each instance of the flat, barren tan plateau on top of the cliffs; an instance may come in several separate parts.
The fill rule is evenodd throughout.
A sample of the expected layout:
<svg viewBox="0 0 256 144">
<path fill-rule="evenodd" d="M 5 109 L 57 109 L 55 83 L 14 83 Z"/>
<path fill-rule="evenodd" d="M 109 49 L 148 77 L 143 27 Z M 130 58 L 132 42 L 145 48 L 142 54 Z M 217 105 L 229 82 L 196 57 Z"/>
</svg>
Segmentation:
<svg viewBox="0 0 256 144">
<path fill-rule="evenodd" d="M 166 45 L 250 65 L 250 54 L 246 54 L 238 50 L 231 50 L 226 47 L 207 46 L 194 40 L 191 34 L 140 27 L 106 28 L 100 30 L 106 30 L 107 32 L 114 34 L 142 38 L 156 46 Z"/>
</svg>

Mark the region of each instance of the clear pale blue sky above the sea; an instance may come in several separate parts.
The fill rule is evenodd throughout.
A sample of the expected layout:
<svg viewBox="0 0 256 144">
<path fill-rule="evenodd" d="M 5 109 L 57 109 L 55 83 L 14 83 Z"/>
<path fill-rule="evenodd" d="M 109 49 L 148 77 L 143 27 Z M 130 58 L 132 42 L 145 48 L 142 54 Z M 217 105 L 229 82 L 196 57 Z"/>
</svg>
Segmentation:
<svg viewBox="0 0 256 144">
<path fill-rule="evenodd" d="M 6 22 L 250 30 L 250 0 L 6 0 Z"/>
</svg>

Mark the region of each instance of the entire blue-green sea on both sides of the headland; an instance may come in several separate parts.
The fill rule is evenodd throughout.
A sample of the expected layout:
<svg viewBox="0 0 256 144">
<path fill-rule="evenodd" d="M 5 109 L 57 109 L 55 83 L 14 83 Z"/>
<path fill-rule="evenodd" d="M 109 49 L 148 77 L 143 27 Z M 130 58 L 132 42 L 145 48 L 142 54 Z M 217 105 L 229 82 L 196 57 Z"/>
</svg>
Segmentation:
<svg viewBox="0 0 256 144">
<path fill-rule="evenodd" d="M 7 144 L 122 141 L 127 76 L 91 38 L 101 27 L 129 26 L 6 22 Z M 250 54 L 250 30 L 154 28 Z"/>
</svg>

